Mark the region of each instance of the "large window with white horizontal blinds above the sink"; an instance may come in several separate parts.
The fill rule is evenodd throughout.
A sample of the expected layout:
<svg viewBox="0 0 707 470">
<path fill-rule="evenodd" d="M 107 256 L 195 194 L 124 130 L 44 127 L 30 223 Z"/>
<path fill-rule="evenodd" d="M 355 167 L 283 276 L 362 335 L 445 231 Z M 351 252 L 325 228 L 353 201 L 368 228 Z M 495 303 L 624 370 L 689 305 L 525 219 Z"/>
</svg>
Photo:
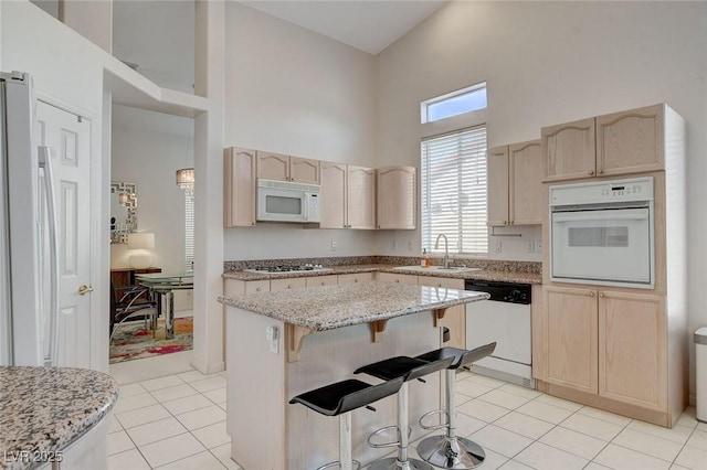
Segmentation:
<svg viewBox="0 0 707 470">
<path fill-rule="evenodd" d="M 422 247 L 444 234 L 450 253 L 488 253 L 486 127 L 425 139 L 421 150 Z"/>
</svg>

